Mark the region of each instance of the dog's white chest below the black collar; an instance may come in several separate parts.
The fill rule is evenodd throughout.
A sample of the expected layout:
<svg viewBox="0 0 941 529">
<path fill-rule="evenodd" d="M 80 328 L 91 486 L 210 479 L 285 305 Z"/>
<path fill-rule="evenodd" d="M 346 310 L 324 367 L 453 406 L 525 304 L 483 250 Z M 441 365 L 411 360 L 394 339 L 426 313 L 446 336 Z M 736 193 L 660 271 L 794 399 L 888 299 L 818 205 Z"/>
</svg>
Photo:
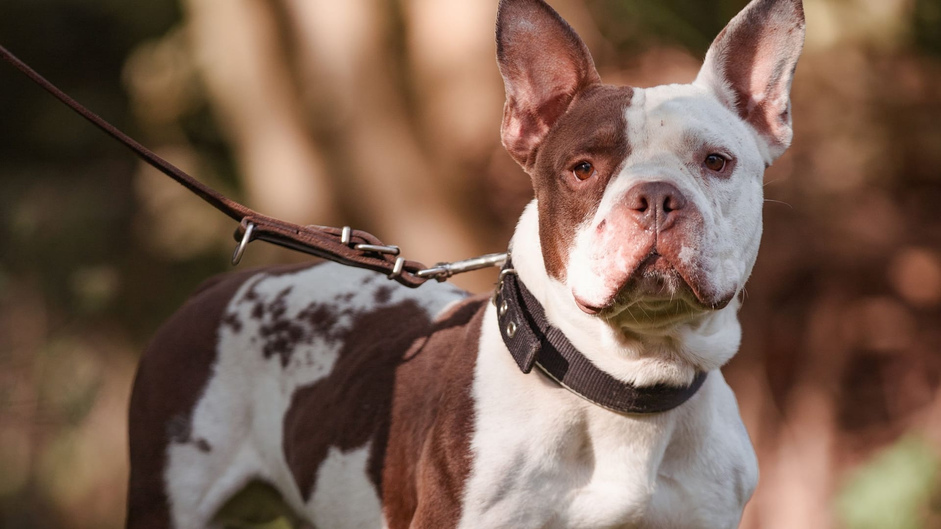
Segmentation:
<svg viewBox="0 0 941 529">
<path fill-rule="evenodd" d="M 755 476 L 734 401 L 713 417 L 714 427 L 688 421 L 689 408 L 616 415 L 536 372 L 521 374 L 496 329 L 485 326 L 482 334 L 473 471 L 460 527 L 737 525 Z M 684 406 L 712 413 L 704 401 L 725 386 L 715 375 L 712 388 Z M 704 452 L 715 457 L 703 461 Z M 718 484 L 717 474 L 724 478 Z"/>
</svg>

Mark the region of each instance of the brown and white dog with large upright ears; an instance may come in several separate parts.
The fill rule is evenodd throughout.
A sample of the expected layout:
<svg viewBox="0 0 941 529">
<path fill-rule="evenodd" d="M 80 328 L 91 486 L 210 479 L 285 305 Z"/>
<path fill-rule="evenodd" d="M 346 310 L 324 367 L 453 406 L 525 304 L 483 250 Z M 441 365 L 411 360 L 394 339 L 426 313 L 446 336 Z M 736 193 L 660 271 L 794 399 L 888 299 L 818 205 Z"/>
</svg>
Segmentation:
<svg viewBox="0 0 941 529">
<path fill-rule="evenodd" d="M 500 3 L 502 140 L 535 191 L 518 280 L 614 378 L 709 373 L 684 404 L 618 413 L 523 374 L 497 308 L 446 283 L 235 273 L 141 361 L 128 527 L 265 521 L 272 499 L 320 529 L 735 527 L 758 467 L 718 370 L 740 343 L 804 33 L 800 0 L 754 0 L 692 84 L 613 87 L 542 0 Z"/>
</svg>

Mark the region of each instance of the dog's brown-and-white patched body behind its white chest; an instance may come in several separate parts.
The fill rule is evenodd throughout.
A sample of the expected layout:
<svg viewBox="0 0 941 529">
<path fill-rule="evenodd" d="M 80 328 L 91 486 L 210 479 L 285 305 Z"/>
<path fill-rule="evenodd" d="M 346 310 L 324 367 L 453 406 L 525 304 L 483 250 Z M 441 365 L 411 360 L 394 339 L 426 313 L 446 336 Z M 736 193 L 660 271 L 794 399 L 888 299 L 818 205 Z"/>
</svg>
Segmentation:
<svg viewBox="0 0 941 529">
<path fill-rule="evenodd" d="M 140 364 L 128 526 L 206 526 L 253 482 L 316 526 L 407 526 L 470 464 L 485 304 L 336 264 L 207 281 Z"/>
</svg>

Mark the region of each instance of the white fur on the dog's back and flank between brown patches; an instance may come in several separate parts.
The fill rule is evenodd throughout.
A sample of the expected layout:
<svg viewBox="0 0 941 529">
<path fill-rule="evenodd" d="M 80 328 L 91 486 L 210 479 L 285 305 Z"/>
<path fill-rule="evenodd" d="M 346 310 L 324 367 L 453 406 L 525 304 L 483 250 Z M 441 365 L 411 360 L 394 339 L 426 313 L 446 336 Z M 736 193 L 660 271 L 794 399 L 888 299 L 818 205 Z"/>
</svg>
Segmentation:
<svg viewBox="0 0 941 529">
<path fill-rule="evenodd" d="M 330 374 L 342 344 L 315 340 L 311 345 L 298 345 L 291 362 L 282 367 L 277 355 L 265 359 L 261 346 L 253 340 L 259 336 L 261 322 L 250 317 L 254 302 L 244 299 L 252 287 L 263 301 L 291 287 L 284 297 L 288 317 L 295 317 L 311 301 L 371 311 L 406 299 L 415 299 L 435 317 L 465 296 L 446 283 L 432 283 L 420 290 L 392 287 L 388 301 L 379 304 L 375 288 L 362 285 L 371 276 L 375 277 L 373 286 L 393 284 L 367 270 L 322 264 L 280 276 L 259 274 L 232 297 L 228 312 L 238 315 L 243 328 L 239 332 L 225 325 L 219 328 L 213 375 L 192 415 L 191 439 L 208 442 L 211 450 L 201 451 L 194 442 L 172 442 L 167 449 L 164 476 L 178 529 L 206 527 L 232 494 L 256 478 L 272 484 L 295 512 L 307 516 L 315 526 L 381 526 L 379 499 L 366 473 L 368 443 L 347 453 L 332 449 L 307 503 L 284 459 L 282 427 L 292 395 Z M 337 301 L 338 295 L 349 297 Z M 351 323 L 349 316 L 341 316 L 337 326 L 349 329 Z"/>
</svg>

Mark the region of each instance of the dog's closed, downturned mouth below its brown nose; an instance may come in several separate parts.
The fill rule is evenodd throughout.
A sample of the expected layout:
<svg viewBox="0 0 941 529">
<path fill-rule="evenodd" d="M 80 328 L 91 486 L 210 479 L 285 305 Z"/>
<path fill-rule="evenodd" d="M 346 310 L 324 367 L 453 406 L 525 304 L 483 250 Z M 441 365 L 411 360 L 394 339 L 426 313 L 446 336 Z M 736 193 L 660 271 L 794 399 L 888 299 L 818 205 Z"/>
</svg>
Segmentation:
<svg viewBox="0 0 941 529">
<path fill-rule="evenodd" d="M 614 297 L 603 304 L 591 304 L 573 293 L 582 312 L 599 314 L 611 319 L 627 313 L 638 323 L 666 325 L 678 319 L 694 317 L 724 309 L 734 294 L 711 299 L 694 272 L 676 266 L 666 257 L 652 250 L 617 290 Z"/>
</svg>

